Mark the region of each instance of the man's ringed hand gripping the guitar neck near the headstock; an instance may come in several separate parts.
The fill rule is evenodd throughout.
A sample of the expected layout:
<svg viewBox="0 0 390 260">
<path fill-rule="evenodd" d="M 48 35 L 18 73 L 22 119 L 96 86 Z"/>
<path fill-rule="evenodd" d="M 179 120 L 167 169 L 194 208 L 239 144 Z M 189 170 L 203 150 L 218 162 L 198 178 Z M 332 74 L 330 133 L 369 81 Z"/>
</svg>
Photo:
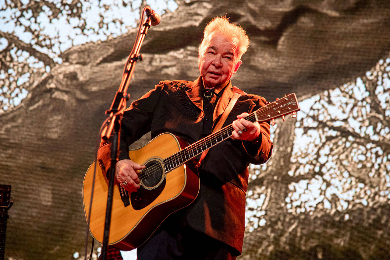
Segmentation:
<svg viewBox="0 0 390 260">
<path fill-rule="evenodd" d="M 232 133 L 234 139 L 254 141 L 261 134 L 259 122 L 252 123 L 244 119 L 248 115 L 248 113 L 242 113 L 237 116 L 237 120 L 234 120 Z"/>
</svg>

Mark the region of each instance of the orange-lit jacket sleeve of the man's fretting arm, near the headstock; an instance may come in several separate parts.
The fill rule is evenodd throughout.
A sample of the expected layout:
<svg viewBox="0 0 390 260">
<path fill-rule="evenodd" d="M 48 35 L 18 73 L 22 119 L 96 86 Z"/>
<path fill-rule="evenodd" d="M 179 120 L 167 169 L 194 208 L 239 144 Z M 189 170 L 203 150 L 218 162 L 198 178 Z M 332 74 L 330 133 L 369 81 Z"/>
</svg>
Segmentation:
<svg viewBox="0 0 390 260">
<path fill-rule="evenodd" d="M 266 99 L 259 97 L 256 103 L 257 106 L 249 113 L 265 106 Z M 269 122 L 259 122 L 259 124 L 261 129 L 259 137 L 254 141 L 242 141 L 248 162 L 252 164 L 262 164 L 268 161 L 273 149 L 273 143 L 269 137 Z"/>
</svg>

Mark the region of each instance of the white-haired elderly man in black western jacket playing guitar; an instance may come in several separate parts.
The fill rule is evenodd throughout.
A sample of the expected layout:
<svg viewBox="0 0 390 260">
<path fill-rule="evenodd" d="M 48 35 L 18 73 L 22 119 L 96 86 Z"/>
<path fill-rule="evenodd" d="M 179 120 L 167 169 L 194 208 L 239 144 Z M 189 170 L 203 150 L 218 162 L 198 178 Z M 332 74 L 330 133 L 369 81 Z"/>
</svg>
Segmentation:
<svg viewBox="0 0 390 260">
<path fill-rule="evenodd" d="M 241 94 L 224 126 L 233 122 L 232 138 L 211 148 L 198 168 L 200 191 L 193 203 L 171 214 L 137 250 L 144 259 L 235 259 L 245 230 L 248 164 L 265 163 L 273 144 L 269 124 L 243 119 L 264 106 L 263 97 L 232 86 L 230 78 L 248 48 L 246 32 L 225 17 L 211 21 L 199 47 L 200 77 L 161 81 L 124 112 L 115 178 L 129 192 L 140 187 L 128 147 L 151 131 L 169 132 L 188 143 L 210 134 L 235 92 Z"/>
</svg>

